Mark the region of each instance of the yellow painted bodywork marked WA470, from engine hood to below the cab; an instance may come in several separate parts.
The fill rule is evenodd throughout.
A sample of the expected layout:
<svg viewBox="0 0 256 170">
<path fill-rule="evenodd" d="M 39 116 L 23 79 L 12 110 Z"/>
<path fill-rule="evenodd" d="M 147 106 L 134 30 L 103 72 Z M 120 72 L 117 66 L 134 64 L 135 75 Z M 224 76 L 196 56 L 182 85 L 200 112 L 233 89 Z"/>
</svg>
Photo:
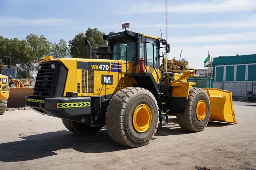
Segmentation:
<svg viewBox="0 0 256 170">
<path fill-rule="evenodd" d="M 68 68 L 66 86 L 63 96 L 67 92 L 78 92 L 78 96 L 106 96 L 116 93 L 126 87 L 132 87 L 136 81 L 132 77 L 125 77 L 126 61 L 104 59 L 51 59 L 62 62 Z M 41 61 L 47 62 L 47 61 Z M 132 62 L 127 63 L 127 73 L 134 73 Z M 159 82 L 160 70 L 146 66 L 156 82 Z M 135 72 L 138 66 L 135 67 Z"/>
</svg>

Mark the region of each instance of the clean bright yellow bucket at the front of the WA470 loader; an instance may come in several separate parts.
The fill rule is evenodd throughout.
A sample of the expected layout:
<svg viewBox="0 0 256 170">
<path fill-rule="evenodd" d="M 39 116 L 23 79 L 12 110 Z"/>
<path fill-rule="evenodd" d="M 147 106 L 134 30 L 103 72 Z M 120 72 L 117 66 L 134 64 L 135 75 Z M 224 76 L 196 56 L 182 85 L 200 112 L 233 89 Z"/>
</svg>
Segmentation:
<svg viewBox="0 0 256 170">
<path fill-rule="evenodd" d="M 210 121 L 236 123 L 232 92 L 218 88 L 204 89 L 210 98 Z"/>
</svg>

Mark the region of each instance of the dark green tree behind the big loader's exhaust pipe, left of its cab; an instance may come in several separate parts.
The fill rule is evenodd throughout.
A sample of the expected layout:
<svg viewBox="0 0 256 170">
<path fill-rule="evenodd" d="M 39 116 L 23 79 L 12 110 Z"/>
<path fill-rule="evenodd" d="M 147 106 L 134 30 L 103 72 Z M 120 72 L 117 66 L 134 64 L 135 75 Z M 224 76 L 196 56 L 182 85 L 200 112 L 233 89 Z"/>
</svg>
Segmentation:
<svg viewBox="0 0 256 170">
<path fill-rule="evenodd" d="M 114 33 L 114 32 L 110 32 Z M 97 49 L 100 46 L 107 46 L 108 43 L 103 39 L 104 32 L 98 30 L 98 28 L 87 29 L 86 33 L 79 33 L 74 39 L 68 41 L 70 47 L 70 56 L 72 58 L 87 58 L 87 50 L 84 41 L 87 39 L 91 45 L 92 50 Z"/>
</svg>

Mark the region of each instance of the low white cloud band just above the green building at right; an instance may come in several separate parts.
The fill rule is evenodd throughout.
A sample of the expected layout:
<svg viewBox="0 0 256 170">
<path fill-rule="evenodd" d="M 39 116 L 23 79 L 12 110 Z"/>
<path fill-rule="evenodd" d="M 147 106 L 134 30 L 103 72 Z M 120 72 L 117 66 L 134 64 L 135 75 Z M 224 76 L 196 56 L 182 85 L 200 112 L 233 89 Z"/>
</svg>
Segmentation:
<svg viewBox="0 0 256 170">
<path fill-rule="evenodd" d="M 181 58 L 186 57 L 190 68 L 198 69 L 204 68 L 204 60 L 208 56 L 208 51 L 212 57 L 219 56 L 235 56 L 235 55 L 249 55 L 256 54 L 256 44 L 226 44 L 226 45 L 210 45 L 202 47 L 187 47 L 187 46 L 176 46 L 172 47 L 170 53 L 167 54 L 168 59 L 175 57 L 180 58 L 180 50 L 182 50 Z M 164 52 L 161 49 L 161 52 Z"/>
</svg>

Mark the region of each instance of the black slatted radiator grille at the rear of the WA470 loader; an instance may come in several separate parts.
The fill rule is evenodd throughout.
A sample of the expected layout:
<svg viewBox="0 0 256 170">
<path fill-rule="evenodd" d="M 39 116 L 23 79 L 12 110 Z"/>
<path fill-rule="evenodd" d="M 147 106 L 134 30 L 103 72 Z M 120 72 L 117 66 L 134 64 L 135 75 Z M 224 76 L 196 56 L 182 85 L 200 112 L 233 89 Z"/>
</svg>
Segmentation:
<svg viewBox="0 0 256 170">
<path fill-rule="evenodd" d="M 52 96 L 52 88 L 54 84 L 54 76 L 56 73 L 56 68 L 57 68 L 56 62 L 48 62 L 48 63 L 40 64 L 40 70 L 38 70 L 38 73 L 36 76 L 36 82 L 35 82 L 34 94 L 33 94 L 34 96 L 40 96 L 40 97 Z"/>
</svg>

